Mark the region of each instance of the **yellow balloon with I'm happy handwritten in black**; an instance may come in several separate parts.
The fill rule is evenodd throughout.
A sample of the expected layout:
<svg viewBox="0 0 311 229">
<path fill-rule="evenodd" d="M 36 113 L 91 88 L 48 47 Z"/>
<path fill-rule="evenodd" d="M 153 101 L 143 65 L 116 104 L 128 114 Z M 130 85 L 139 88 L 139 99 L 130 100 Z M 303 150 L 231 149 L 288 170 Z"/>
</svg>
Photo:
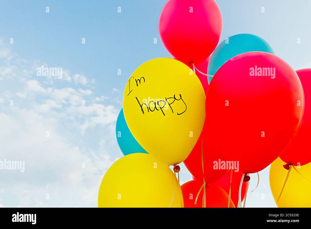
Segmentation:
<svg viewBox="0 0 311 229">
<path fill-rule="evenodd" d="M 149 60 L 133 72 L 124 90 L 123 112 L 130 131 L 166 165 L 187 158 L 204 125 L 204 90 L 189 70 L 178 60 Z"/>
</svg>

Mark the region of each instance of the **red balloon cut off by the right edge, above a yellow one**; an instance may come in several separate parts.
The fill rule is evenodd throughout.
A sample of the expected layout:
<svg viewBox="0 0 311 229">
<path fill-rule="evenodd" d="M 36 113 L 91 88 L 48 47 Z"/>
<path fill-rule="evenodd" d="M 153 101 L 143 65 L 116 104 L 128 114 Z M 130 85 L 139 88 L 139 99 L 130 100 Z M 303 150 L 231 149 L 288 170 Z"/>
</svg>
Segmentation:
<svg viewBox="0 0 311 229">
<path fill-rule="evenodd" d="M 311 69 L 300 69 L 296 72 L 304 89 L 304 114 L 293 140 L 280 155 L 283 161 L 294 166 L 311 162 L 311 145 L 309 142 L 311 132 Z"/>
</svg>

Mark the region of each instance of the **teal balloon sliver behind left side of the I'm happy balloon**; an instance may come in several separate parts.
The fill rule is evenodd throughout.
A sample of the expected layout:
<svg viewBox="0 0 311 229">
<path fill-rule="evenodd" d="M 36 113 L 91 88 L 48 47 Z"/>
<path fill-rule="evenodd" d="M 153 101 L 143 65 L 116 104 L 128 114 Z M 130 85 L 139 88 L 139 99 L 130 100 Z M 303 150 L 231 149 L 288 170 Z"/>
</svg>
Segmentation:
<svg viewBox="0 0 311 229">
<path fill-rule="evenodd" d="M 116 136 L 118 145 L 124 155 L 132 153 L 146 153 L 146 150 L 136 141 L 131 131 L 128 129 L 128 125 L 125 122 L 123 109 L 121 109 L 116 125 Z"/>
</svg>

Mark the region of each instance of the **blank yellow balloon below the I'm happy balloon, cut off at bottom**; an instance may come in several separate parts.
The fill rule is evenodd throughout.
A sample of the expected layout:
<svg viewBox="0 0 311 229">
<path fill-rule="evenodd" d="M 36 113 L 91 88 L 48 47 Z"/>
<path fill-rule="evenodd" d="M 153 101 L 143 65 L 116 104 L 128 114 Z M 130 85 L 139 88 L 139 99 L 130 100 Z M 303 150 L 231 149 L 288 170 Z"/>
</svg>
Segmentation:
<svg viewBox="0 0 311 229">
<path fill-rule="evenodd" d="M 126 155 L 107 170 L 98 193 L 100 208 L 183 208 L 172 170 L 145 153 Z"/>
</svg>

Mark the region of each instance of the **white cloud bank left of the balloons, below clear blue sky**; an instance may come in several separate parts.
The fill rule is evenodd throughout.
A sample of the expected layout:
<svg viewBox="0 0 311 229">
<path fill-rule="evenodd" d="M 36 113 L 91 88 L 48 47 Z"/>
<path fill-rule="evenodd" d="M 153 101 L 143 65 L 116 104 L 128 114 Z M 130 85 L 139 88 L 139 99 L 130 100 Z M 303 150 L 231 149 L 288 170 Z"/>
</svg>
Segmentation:
<svg viewBox="0 0 311 229">
<path fill-rule="evenodd" d="M 0 207 L 96 207 L 102 176 L 122 155 L 114 133 L 119 110 L 96 103 L 108 97 L 90 90 L 94 79 L 69 70 L 62 79 L 37 77 L 35 69 L 47 64 L 3 46 L 0 57 L 0 103 L 7 101 L 0 106 L 0 158 L 25 161 L 24 173 L 1 171 Z M 72 79 L 87 88 L 72 88 Z"/>
</svg>

